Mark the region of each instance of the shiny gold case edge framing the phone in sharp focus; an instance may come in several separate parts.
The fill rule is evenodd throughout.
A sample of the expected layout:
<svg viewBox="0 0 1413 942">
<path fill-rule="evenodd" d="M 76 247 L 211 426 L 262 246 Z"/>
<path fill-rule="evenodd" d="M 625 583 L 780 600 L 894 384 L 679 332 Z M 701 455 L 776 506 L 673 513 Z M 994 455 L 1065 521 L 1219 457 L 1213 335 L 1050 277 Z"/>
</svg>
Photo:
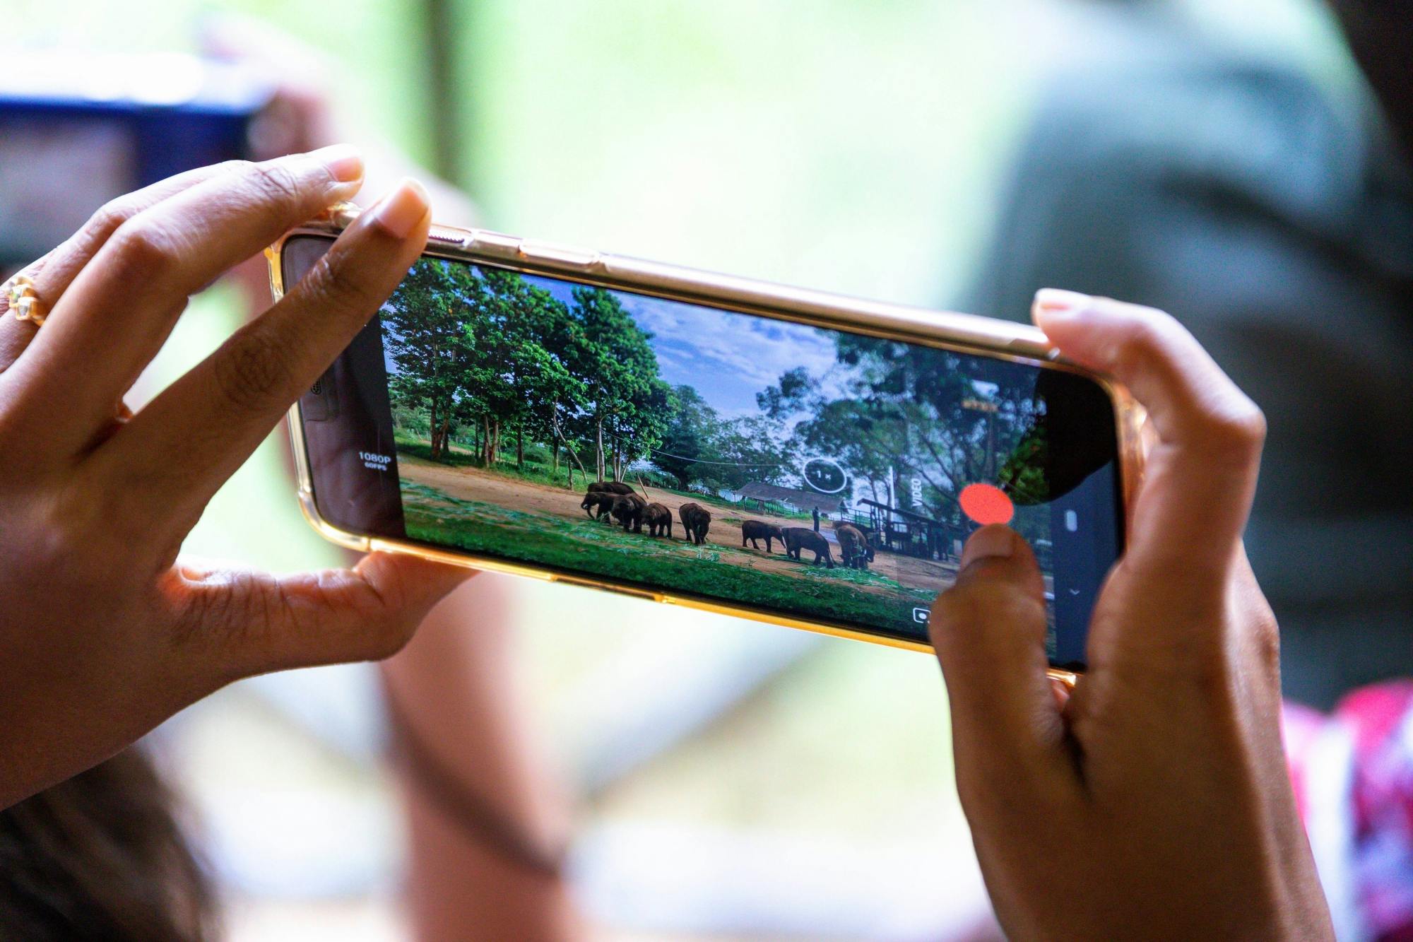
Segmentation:
<svg viewBox="0 0 1413 942">
<path fill-rule="evenodd" d="M 270 289 L 276 300 L 284 296 L 281 256 L 284 243 L 297 235 L 336 236 L 353 219 L 359 209 L 352 204 L 339 204 L 318 219 L 285 233 L 276 245 L 266 249 L 270 262 Z M 536 242 L 517 236 L 490 232 L 487 229 L 458 229 L 432 225 L 427 240 L 427 256 L 461 262 L 486 263 L 530 274 L 547 274 L 584 284 L 623 289 L 661 298 L 702 303 L 745 314 L 756 314 L 776 320 L 810 324 L 814 327 L 842 328 L 896 341 L 907 341 L 941 349 L 979 354 L 1012 362 L 1030 364 L 1046 369 L 1061 369 L 1082 373 L 1098 382 L 1111 396 L 1115 406 L 1116 436 L 1119 446 L 1119 475 L 1125 508 L 1132 504 L 1132 495 L 1143 470 L 1143 448 L 1140 429 L 1145 420 L 1143 407 L 1129 392 L 1113 379 L 1095 375 L 1074 364 L 1065 362 L 1054 351 L 1044 334 L 1034 327 L 998 321 L 971 314 L 931 311 L 926 308 L 866 301 L 822 291 L 784 287 L 766 281 L 714 274 L 692 269 L 644 262 L 625 256 L 605 255 L 574 246 Z M 314 501 L 314 478 L 309 470 L 308 450 L 304 441 L 304 423 L 300 403 L 290 410 L 290 438 L 294 464 L 298 474 L 300 506 L 305 519 L 325 539 L 359 552 L 411 553 L 425 559 L 469 566 L 496 573 L 528 576 L 544 581 L 588 586 L 637 598 L 685 605 L 723 615 L 736 615 L 790 628 L 803 628 L 827 635 L 870 641 L 893 648 L 931 652 L 926 642 L 907 641 L 889 635 L 859 631 L 855 627 L 829 624 L 811 618 L 790 618 L 777 612 L 756 610 L 743 604 L 721 600 L 697 598 L 667 591 L 649 591 L 639 586 L 617 583 L 612 578 L 589 574 L 568 576 L 548 571 L 526 563 L 478 556 L 475 553 L 434 549 L 407 540 L 352 533 L 339 529 L 319 516 Z M 1064 680 L 1074 680 L 1065 670 L 1051 670 Z"/>
</svg>

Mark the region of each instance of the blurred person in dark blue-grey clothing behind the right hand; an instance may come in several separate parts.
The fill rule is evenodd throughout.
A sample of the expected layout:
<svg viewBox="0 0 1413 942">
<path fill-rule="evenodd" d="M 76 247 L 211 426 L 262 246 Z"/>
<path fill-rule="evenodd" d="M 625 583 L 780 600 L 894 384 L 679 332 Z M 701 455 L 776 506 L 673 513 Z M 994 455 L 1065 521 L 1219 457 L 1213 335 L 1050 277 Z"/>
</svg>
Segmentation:
<svg viewBox="0 0 1413 942">
<path fill-rule="evenodd" d="M 1265 409 L 1248 549 L 1286 693 L 1316 706 L 1413 669 L 1413 7 L 1335 6 L 1382 113 L 1112 4 L 964 307 L 1023 320 L 1061 286 L 1166 308 Z"/>
</svg>

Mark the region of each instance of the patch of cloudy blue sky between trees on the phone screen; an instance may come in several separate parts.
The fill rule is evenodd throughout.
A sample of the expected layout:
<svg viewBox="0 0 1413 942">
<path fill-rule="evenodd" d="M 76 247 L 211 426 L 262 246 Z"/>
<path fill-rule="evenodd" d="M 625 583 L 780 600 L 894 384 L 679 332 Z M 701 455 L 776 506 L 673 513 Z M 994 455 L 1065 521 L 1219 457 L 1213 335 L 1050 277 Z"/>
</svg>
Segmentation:
<svg viewBox="0 0 1413 942">
<path fill-rule="evenodd" d="M 528 274 L 526 280 L 574 301 L 575 284 Z M 723 417 L 756 414 L 756 393 L 788 369 L 804 366 L 822 378 L 836 366 L 828 331 L 629 291 L 615 294 L 639 327 L 653 334 L 663 379 L 694 386 Z"/>
</svg>

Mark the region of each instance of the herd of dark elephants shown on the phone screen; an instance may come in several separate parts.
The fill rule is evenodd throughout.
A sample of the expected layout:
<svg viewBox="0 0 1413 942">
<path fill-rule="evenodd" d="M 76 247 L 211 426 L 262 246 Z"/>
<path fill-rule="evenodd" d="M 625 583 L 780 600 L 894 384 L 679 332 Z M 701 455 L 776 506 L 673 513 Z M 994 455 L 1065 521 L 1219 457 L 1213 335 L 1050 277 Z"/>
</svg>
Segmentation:
<svg viewBox="0 0 1413 942">
<path fill-rule="evenodd" d="M 673 512 L 663 504 L 649 502 L 633 491 L 630 484 L 620 481 L 593 481 L 579 508 L 589 516 L 609 522 L 617 522 L 625 530 L 642 533 L 647 525 L 649 536 L 673 536 Z M 699 504 L 682 504 L 677 508 L 677 516 L 682 523 L 684 537 L 690 543 L 701 546 L 706 542 L 706 530 L 711 528 L 711 511 Z M 846 569 L 866 570 L 873 562 L 873 546 L 868 535 L 852 523 L 841 523 L 835 528 L 839 539 L 839 556 Z M 759 540 L 766 542 L 766 553 L 774 553 L 774 540 L 780 540 L 787 559 L 804 562 L 801 553 L 814 553 L 814 564 L 824 563 L 827 569 L 834 569 L 834 554 L 829 542 L 807 526 L 777 526 L 764 521 L 743 521 L 740 525 L 740 546 L 749 543 L 759 550 Z"/>
</svg>

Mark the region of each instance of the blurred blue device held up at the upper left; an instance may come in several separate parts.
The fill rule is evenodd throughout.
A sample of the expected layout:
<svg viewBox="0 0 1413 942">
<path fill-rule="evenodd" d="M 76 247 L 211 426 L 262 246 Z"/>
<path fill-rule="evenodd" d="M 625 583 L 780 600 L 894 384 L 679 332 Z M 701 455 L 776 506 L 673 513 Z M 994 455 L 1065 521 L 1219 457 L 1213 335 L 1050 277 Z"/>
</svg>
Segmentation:
<svg viewBox="0 0 1413 942">
<path fill-rule="evenodd" d="M 7 52 L 0 69 L 0 264 L 68 238 L 106 201 L 244 157 L 274 83 L 182 54 Z"/>
</svg>

